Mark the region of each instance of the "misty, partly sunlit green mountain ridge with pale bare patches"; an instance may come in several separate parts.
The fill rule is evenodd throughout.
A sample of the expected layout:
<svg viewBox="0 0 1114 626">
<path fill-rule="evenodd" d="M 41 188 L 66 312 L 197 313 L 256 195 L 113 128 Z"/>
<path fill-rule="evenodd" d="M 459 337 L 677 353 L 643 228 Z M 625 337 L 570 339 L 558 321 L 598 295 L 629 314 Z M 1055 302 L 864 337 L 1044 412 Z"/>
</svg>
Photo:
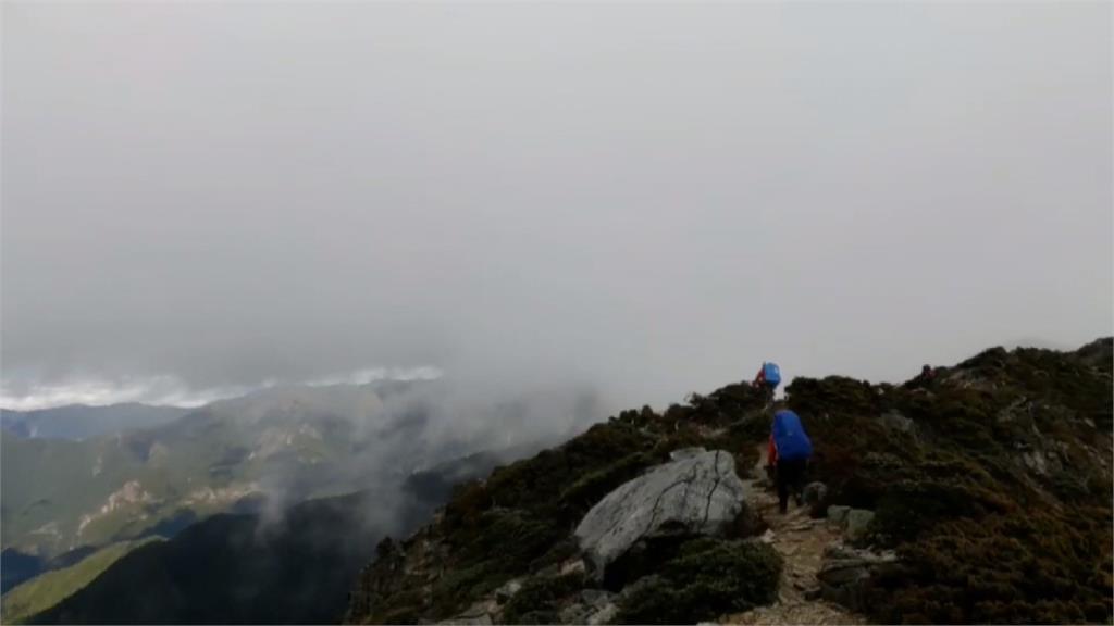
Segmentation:
<svg viewBox="0 0 1114 626">
<path fill-rule="evenodd" d="M 294 385 L 84 441 L 3 437 L 4 560 L 17 549 L 45 563 L 263 495 L 296 501 L 401 483 L 412 470 L 492 448 L 491 432 L 526 419 L 511 411 L 490 428 L 457 420 L 452 400 L 440 381 Z M 558 426 L 536 428 L 522 443 Z"/>
</svg>

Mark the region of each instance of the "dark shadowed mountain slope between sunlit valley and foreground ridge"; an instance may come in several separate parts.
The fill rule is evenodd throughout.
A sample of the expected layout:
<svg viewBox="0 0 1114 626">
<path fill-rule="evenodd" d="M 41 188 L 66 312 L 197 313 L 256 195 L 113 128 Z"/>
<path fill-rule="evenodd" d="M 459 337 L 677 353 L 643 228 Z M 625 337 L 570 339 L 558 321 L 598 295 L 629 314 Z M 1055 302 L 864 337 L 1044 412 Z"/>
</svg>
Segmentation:
<svg viewBox="0 0 1114 626">
<path fill-rule="evenodd" d="M 398 492 L 310 500 L 274 519 L 213 516 L 130 551 L 88 586 L 23 617 L 36 624 L 336 623 L 384 536 L 409 532 L 448 500 L 456 481 L 506 460 L 470 456 L 412 475 Z M 375 513 L 384 506 L 395 512 L 389 520 Z"/>
</svg>

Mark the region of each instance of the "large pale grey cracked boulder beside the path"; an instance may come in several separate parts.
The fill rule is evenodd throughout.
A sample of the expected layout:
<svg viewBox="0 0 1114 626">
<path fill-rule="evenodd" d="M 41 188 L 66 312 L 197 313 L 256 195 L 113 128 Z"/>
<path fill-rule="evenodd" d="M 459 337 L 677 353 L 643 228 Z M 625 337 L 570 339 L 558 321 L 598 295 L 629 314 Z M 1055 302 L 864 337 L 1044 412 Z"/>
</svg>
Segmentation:
<svg viewBox="0 0 1114 626">
<path fill-rule="evenodd" d="M 743 506 L 731 453 L 688 448 L 604 497 L 580 520 L 576 537 L 602 577 L 638 540 L 678 531 L 717 534 Z"/>
</svg>

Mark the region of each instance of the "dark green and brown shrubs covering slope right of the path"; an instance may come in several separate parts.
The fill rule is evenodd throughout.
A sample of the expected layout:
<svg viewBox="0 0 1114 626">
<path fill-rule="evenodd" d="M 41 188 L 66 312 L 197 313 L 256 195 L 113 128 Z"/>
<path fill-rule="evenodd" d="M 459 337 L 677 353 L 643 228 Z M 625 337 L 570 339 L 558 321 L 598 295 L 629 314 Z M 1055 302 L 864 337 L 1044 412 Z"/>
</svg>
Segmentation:
<svg viewBox="0 0 1114 626">
<path fill-rule="evenodd" d="M 898 550 L 871 618 L 1111 620 L 1110 345 L 1093 362 L 993 349 L 921 390 L 834 376 L 786 390 L 823 505 L 876 509 L 869 540 Z"/>
</svg>

